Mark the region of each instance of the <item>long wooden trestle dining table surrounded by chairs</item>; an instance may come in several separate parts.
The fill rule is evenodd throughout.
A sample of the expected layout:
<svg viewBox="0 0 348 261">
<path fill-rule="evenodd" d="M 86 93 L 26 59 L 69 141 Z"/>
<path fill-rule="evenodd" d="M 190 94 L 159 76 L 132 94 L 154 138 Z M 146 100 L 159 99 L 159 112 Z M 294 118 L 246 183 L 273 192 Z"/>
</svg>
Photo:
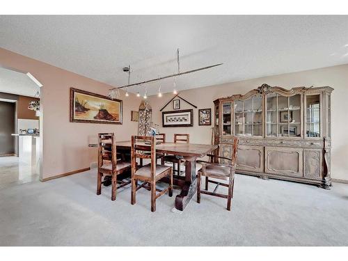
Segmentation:
<svg viewBox="0 0 348 261">
<path fill-rule="evenodd" d="M 146 144 L 144 144 L 146 145 Z M 97 144 L 89 144 L 89 147 L 97 147 Z M 118 152 L 130 155 L 131 141 L 116 142 Z M 150 145 L 149 145 L 150 146 Z M 197 191 L 196 161 L 198 158 L 205 157 L 210 152 L 214 152 L 218 145 L 196 144 L 196 143 L 173 143 L 164 142 L 156 144 L 156 152 L 167 155 L 182 157 L 185 164 L 185 175 L 175 175 L 173 184 L 181 187 L 181 192 L 175 197 L 175 208 L 183 211 L 189 204 L 191 198 Z M 164 179 L 164 182 L 168 180 Z"/>
</svg>

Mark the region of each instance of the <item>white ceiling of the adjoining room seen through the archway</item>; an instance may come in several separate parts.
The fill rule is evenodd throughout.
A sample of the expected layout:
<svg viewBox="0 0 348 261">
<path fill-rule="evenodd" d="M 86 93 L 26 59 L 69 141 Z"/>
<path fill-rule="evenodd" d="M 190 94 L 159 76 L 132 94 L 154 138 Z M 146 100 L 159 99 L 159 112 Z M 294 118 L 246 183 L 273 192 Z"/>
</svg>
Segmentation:
<svg viewBox="0 0 348 261">
<path fill-rule="evenodd" d="M 34 97 L 40 88 L 23 72 L 0 68 L 0 92 Z"/>
</svg>

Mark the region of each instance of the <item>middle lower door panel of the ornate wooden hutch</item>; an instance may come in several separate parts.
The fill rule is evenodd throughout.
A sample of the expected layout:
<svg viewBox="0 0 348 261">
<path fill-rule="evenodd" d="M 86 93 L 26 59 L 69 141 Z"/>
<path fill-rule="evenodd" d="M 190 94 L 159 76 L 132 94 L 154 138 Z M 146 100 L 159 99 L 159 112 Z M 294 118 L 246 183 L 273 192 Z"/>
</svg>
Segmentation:
<svg viewBox="0 0 348 261">
<path fill-rule="evenodd" d="M 303 150 L 301 148 L 265 147 L 266 173 L 303 176 Z"/>
</svg>

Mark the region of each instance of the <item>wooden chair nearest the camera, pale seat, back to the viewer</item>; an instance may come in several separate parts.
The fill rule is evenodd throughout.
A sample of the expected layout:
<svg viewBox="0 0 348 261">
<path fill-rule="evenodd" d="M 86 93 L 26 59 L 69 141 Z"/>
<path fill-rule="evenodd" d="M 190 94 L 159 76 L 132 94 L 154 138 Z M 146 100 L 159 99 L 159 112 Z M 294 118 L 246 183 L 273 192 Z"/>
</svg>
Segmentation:
<svg viewBox="0 0 348 261">
<path fill-rule="evenodd" d="M 145 143 L 149 143 L 150 146 Z M 150 151 L 150 155 L 144 154 Z M 132 136 L 132 197 L 131 203 L 136 203 L 136 191 L 144 187 L 151 191 L 151 211 L 156 211 L 156 200 L 169 191 L 169 196 L 173 196 L 173 169 L 171 166 L 157 164 L 156 159 L 156 139 L 150 136 Z M 150 159 L 150 164 L 136 167 L 136 159 Z M 163 190 L 156 189 L 156 182 L 162 177 L 169 177 L 169 187 Z M 138 186 L 138 181 L 143 183 Z M 150 186 L 149 186 L 150 185 Z M 159 193 L 156 193 L 158 191 Z"/>
</svg>

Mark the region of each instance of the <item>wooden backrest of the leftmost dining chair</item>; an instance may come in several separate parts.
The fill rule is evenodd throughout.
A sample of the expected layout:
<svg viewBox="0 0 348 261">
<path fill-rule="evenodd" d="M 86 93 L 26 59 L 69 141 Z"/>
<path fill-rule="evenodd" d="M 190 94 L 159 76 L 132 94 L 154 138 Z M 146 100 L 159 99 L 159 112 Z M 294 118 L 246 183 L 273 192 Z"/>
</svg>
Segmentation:
<svg viewBox="0 0 348 261">
<path fill-rule="evenodd" d="M 104 165 L 104 161 L 111 164 L 112 171 L 116 171 L 116 141 L 113 133 L 98 134 L 98 171 Z"/>
</svg>

